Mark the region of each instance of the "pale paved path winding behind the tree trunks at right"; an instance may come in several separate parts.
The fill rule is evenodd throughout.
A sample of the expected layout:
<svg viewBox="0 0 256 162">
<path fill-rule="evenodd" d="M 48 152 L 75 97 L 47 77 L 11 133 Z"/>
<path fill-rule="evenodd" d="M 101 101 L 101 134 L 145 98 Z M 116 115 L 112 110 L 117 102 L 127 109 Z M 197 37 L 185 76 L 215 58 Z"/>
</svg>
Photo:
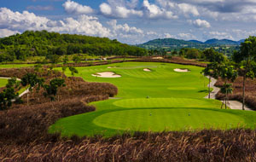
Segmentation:
<svg viewBox="0 0 256 162">
<path fill-rule="evenodd" d="M 208 78 L 208 77 L 207 77 Z M 215 78 L 211 78 L 212 82 L 211 82 L 211 88 L 213 89 L 211 92 L 211 99 L 216 99 L 216 95 L 218 94 L 218 91 L 220 90 L 220 88 L 215 87 L 214 84 L 216 84 L 217 80 Z M 209 85 L 209 84 L 208 84 Z M 205 98 L 208 98 L 208 95 L 205 96 Z M 224 102 L 224 101 L 222 101 Z M 240 101 L 229 101 L 229 103 L 227 104 L 231 109 L 235 109 L 235 110 L 241 110 L 242 107 L 242 103 Z M 251 108 L 245 106 L 244 107 L 245 110 L 247 111 L 253 111 Z"/>
</svg>

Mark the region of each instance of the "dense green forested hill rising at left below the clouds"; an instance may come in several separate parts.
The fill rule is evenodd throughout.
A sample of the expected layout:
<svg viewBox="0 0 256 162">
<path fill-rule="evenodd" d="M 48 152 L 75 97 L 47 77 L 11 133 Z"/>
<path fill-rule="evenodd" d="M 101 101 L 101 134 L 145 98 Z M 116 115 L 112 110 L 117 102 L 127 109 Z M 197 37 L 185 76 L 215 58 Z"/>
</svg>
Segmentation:
<svg viewBox="0 0 256 162">
<path fill-rule="evenodd" d="M 147 50 L 116 39 L 96 38 L 56 32 L 26 31 L 8 38 L 0 38 L 0 61 L 24 60 L 35 55 L 146 55 Z"/>
</svg>

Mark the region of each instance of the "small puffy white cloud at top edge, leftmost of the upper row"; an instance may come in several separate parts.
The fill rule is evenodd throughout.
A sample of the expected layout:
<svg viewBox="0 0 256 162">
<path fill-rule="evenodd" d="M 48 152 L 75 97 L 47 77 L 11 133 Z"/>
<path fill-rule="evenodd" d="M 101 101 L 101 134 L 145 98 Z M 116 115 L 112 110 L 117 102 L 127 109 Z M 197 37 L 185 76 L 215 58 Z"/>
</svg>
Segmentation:
<svg viewBox="0 0 256 162">
<path fill-rule="evenodd" d="M 67 0 L 66 3 L 62 4 L 62 6 L 68 14 L 92 14 L 94 12 L 90 6 L 83 6 L 71 0 Z"/>
</svg>

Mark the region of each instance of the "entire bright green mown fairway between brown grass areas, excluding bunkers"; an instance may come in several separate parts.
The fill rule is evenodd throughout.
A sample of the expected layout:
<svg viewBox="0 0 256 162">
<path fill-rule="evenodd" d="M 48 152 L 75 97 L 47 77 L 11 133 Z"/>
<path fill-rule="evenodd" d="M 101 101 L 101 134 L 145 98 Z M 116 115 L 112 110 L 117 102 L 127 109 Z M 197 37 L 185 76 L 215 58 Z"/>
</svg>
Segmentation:
<svg viewBox="0 0 256 162">
<path fill-rule="evenodd" d="M 144 72 L 143 68 L 152 72 Z M 190 72 L 174 72 L 175 68 L 188 68 Z M 62 136 L 113 136 L 126 130 L 230 129 L 237 124 L 255 127 L 256 113 L 221 110 L 220 101 L 203 98 L 208 82 L 200 73 L 201 67 L 125 62 L 78 70 L 76 76 L 86 81 L 116 85 L 118 99 L 90 103 L 96 106 L 96 112 L 60 119 L 49 127 L 49 132 L 61 131 Z M 122 77 L 91 76 L 96 72 L 115 72 Z"/>
</svg>

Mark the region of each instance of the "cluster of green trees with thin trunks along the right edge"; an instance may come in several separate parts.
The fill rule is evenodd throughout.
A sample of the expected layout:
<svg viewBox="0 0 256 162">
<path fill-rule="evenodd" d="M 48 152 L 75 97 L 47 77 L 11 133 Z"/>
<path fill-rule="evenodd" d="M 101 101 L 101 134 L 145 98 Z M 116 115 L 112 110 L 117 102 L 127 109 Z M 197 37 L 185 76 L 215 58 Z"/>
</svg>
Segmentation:
<svg viewBox="0 0 256 162">
<path fill-rule="evenodd" d="M 224 104 L 226 107 L 229 100 L 228 94 L 232 93 L 232 82 L 241 76 L 242 79 L 242 107 L 245 109 L 246 80 L 255 78 L 256 73 L 256 37 L 249 37 L 241 43 L 240 49 L 235 51 L 230 60 L 214 59 L 202 71 L 209 78 L 222 78 L 224 85 L 221 92 L 225 94 Z M 209 79 L 210 98 L 210 79 Z"/>
</svg>

